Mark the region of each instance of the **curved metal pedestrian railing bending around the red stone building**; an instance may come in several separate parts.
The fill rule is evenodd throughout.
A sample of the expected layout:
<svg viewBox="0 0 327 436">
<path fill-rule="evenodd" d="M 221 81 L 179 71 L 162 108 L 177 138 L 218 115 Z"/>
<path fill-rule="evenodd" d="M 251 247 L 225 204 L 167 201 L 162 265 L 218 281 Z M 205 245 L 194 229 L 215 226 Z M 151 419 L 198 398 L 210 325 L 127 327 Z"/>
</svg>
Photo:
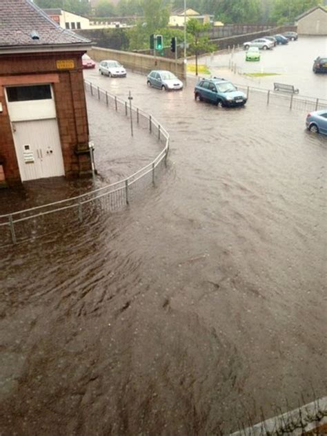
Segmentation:
<svg viewBox="0 0 327 436">
<path fill-rule="evenodd" d="M 72 228 L 82 222 L 88 222 L 103 211 L 122 209 L 139 193 L 154 185 L 162 169 L 166 167 L 169 134 L 155 117 L 133 106 L 131 101 L 126 102 L 110 95 L 90 82 L 85 82 L 85 88 L 108 108 L 128 117 L 131 126 L 134 122 L 155 135 L 159 143 L 163 144 L 163 149 L 146 167 L 119 182 L 47 205 L 0 215 L 0 247 L 56 234 L 65 226 Z"/>
</svg>

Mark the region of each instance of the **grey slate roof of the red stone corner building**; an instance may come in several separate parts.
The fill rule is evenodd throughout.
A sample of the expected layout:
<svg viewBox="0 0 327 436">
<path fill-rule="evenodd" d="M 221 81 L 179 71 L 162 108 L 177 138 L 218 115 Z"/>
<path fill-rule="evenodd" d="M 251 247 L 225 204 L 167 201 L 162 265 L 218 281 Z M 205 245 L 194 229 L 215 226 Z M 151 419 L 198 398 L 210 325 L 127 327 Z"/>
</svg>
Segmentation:
<svg viewBox="0 0 327 436">
<path fill-rule="evenodd" d="M 39 39 L 32 39 L 36 31 Z M 88 46 L 91 41 L 54 23 L 30 0 L 0 0 L 0 48 Z"/>
</svg>

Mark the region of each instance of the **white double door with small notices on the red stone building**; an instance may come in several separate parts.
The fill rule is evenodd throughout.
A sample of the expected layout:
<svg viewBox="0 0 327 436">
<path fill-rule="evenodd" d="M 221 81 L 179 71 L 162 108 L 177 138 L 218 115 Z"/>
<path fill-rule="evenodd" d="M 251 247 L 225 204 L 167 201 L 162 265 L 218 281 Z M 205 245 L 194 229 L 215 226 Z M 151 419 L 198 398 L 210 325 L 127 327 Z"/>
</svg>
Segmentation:
<svg viewBox="0 0 327 436">
<path fill-rule="evenodd" d="M 64 176 L 57 119 L 12 122 L 21 180 Z"/>
</svg>

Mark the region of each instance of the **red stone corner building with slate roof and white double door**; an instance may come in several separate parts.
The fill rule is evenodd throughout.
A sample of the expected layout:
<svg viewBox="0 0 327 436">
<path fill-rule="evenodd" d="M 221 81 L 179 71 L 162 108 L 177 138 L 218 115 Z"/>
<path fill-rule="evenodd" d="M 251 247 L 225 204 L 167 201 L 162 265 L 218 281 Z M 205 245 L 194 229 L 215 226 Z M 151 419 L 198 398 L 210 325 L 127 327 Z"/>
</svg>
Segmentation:
<svg viewBox="0 0 327 436">
<path fill-rule="evenodd" d="M 90 173 L 81 64 L 90 41 L 30 0 L 1 0 L 0 23 L 0 185 Z"/>
</svg>

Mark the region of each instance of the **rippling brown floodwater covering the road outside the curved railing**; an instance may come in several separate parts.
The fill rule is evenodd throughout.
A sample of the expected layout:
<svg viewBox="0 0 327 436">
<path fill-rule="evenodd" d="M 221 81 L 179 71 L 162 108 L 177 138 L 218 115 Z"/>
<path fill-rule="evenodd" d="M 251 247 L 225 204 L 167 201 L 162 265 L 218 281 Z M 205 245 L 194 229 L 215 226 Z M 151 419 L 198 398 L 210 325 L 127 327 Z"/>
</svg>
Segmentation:
<svg viewBox="0 0 327 436">
<path fill-rule="evenodd" d="M 121 212 L 0 251 L 0 434 L 228 434 L 326 395 L 327 142 L 307 111 L 86 78 L 162 122 L 168 169 Z"/>
</svg>

